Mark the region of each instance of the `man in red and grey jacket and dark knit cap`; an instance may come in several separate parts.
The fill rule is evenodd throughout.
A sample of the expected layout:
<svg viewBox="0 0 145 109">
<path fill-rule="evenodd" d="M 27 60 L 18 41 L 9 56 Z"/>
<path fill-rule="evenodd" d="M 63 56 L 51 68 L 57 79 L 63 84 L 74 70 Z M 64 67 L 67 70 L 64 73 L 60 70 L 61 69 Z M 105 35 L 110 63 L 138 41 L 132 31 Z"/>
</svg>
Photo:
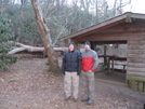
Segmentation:
<svg viewBox="0 0 145 109">
<path fill-rule="evenodd" d="M 94 71 L 97 69 L 97 53 L 91 50 L 91 43 L 85 41 L 84 52 L 82 52 L 81 80 L 84 87 L 84 98 L 82 101 L 88 101 L 88 105 L 94 103 Z"/>
</svg>

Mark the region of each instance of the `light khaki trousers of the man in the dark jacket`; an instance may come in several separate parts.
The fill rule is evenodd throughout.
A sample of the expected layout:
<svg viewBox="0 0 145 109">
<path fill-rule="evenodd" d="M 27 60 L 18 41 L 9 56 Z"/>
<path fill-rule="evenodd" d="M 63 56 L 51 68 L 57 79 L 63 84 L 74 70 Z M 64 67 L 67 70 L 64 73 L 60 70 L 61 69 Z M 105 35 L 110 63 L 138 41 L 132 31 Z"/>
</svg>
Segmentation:
<svg viewBox="0 0 145 109">
<path fill-rule="evenodd" d="M 78 98 L 78 88 L 79 88 L 79 76 L 77 72 L 65 72 L 64 78 L 64 90 L 66 97 L 72 96 L 74 98 Z"/>
</svg>

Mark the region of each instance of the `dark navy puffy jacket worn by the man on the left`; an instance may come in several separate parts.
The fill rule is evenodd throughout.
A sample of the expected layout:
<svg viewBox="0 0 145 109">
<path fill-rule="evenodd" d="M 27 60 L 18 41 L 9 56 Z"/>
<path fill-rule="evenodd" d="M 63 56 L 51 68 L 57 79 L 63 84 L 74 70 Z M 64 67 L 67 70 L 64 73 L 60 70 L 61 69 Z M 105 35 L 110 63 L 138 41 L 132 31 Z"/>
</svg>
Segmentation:
<svg viewBox="0 0 145 109">
<path fill-rule="evenodd" d="M 77 71 L 79 76 L 81 72 L 81 54 L 79 51 L 74 50 L 72 52 L 67 51 L 63 57 L 63 66 L 62 66 L 63 73 L 65 71 Z"/>
</svg>

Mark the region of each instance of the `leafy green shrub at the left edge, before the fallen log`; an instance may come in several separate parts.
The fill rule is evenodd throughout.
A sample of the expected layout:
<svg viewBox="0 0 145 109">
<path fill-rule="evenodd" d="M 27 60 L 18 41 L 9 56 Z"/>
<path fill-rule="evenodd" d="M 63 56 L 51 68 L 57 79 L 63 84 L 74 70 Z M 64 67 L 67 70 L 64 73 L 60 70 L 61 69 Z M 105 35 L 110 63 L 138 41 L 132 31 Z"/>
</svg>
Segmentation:
<svg viewBox="0 0 145 109">
<path fill-rule="evenodd" d="M 0 70 L 8 70 L 8 65 L 16 63 L 18 57 L 10 56 L 6 54 L 11 51 L 13 43 L 8 43 L 13 39 L 13 32 L 11 31 L 11 19 L 8 15 L 0 15 Z"/>
</svg>

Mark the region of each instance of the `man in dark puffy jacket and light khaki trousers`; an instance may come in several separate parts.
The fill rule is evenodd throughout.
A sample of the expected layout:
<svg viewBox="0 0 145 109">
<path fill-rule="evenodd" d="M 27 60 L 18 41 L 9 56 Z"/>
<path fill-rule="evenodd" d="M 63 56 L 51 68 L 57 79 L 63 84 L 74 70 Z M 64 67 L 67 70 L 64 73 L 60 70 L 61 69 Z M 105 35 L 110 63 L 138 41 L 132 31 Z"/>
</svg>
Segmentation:
<svg viewBox="0 0 145 109">
<path fill-rule="evenodd" d="M 70 42 L 68 51 L 64 54 L 62 66 L 64 78 L 64 90 L 66 97 L 69 99 L 71 96 L 71 83 L 72 83 L 72 97 L 74 100 L 78 99 L 79 87 L 79 74 L 81 72 L 81 54 L 75 50 L 75 43 Z"/>
</svg>

